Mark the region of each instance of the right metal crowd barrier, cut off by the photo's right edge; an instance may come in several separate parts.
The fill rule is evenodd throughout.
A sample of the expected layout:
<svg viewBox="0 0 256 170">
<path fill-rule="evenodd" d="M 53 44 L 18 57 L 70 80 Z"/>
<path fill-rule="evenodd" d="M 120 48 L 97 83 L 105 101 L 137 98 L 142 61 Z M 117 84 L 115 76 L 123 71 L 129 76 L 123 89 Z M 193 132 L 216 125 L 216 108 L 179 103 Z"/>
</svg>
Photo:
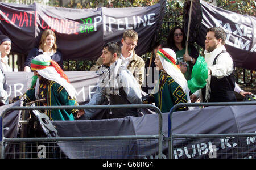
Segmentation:
<svg viewBox="0 0 256 170">
<path fill-rule="evenodd" d="M 183 107 L 208 107 L 208 106 L 233 106 L 233 105 L 256 105 L 256 102 L 220 102 L 220 103 L 180 103 L 174 105 L 169 112 L 169 121 L 168 121 L 168 137 L 164 137 L 164 140 L 168 141 L 168 158 L 173 159 L 174 156 L 174 146 L 173 142 L 176 138 L 185 138 L 185 139 L 199 139 L 199 138 L 219 138 L 219 137 L 253 137 L 255 138 L 255 133 L 237 133 L 237 134 L 175 134 L 172 133 L 172 113 L 177 108 Z"/>
</svg>

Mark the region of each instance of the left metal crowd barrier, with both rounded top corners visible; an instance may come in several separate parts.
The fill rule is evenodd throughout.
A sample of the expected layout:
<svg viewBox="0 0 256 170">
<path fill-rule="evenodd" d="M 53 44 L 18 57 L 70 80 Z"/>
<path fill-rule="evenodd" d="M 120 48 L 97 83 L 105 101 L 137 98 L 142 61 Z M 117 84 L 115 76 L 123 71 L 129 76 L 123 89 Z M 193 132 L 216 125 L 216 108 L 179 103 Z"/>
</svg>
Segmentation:
<svg viewBox="0 0 256 170">
<path fill-rule="evenodd" d="M 48 137 L 48 138 L 6 138 L 4 136 L 3 118 L 9 111 L 14 110 L 51 110 L 51 109 L 112 109 L 112 108 L 151 108 L 154 109 L 159 117 L 158 135 L 126 135 L 126 136 L 98 136 L 98 137 Z M 133 104 L 133 105 L 80 105 L 80 106 L 51 106 L 51 107 L 10 107 L 2 113 L 2 141 L 1 158 L 5 158 L 6 142 L 59 142 L 59 141 L 93 141 L 93 140 L 121 140 L 121 139 L 158 139 L 158 158 L 162 158 L 163 132 L 162 132 L 162 113 L 158 107 L 151 104 Z"/>
</svg>

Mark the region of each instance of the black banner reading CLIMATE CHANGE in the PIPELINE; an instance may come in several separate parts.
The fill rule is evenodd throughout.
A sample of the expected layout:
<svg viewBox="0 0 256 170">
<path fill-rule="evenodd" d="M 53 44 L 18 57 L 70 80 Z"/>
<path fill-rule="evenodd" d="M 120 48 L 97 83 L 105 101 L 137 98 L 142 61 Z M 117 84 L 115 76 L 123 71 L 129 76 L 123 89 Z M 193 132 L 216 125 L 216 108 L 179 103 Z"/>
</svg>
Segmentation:
<svg viewBox="0 0 256 170">
<path fill-rule="evenodd" d="M 146 53 L 158 35 L 166 1 L 148 7 L 71 9 L 0 3 L 0 34 L 10 37 L 11 50 L 28 53 L 39 45 L 42 32 L 52 29 L 64 60 L 92 60 L 105 42 L 121 42 L 123 31 L 134 29 L 139 40 L 135 52 Z"/>
</svg>

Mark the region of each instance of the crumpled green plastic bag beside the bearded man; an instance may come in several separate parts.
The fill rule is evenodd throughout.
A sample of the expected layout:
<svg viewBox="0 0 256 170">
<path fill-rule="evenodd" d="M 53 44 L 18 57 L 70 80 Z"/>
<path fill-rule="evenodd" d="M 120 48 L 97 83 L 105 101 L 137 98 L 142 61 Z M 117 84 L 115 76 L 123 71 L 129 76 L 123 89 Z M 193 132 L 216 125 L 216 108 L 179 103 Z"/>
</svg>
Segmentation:
<svg viewBox="0 0 256 170">
<path fill-rule="evenodd" d="M 192 93 L 204 88 L 207 83 L 208 68 L 204 57 L 199 56 L 192 69 L 191 80 L 188 80 L 188 88 Z"/>
</svg>

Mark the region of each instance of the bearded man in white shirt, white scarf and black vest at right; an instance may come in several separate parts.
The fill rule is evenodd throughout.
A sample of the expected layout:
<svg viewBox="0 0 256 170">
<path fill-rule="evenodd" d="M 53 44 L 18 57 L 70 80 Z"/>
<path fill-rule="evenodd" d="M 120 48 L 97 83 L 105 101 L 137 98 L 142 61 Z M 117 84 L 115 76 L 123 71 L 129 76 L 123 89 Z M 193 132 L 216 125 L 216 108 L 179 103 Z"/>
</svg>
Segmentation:
<svg viewBox="0 0 256 170">
<path fill-rule="evenodd" d="M 225 48 L 226 33 L 220 27 L 207 29 L 205 62 L 208 65 L 207 85 L 201 90 L 202 102 L 236 101 L 235 76 L 232 57 Z M 191 95 L 191 100 L 200 96 L 200 90 Z"/>
</svg>

